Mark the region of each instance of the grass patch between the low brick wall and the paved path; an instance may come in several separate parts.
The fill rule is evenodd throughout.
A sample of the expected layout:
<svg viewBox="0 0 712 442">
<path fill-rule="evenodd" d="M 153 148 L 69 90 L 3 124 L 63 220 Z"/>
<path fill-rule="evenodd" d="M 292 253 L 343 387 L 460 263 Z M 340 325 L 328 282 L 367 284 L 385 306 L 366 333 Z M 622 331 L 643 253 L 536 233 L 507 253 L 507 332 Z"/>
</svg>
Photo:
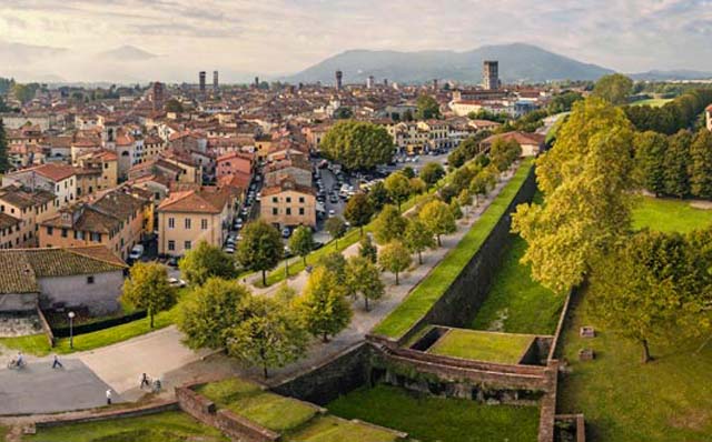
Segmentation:
<svg viewBox="0 0 712 442">
<path fill-rule="evenodd" d="M 264 391 L 259 385 L 237 378 L 208 383 L 196 391 L 219 408 L 277 432 L 296 429 L 317 413 L 315 406 Z"/>
</svg>

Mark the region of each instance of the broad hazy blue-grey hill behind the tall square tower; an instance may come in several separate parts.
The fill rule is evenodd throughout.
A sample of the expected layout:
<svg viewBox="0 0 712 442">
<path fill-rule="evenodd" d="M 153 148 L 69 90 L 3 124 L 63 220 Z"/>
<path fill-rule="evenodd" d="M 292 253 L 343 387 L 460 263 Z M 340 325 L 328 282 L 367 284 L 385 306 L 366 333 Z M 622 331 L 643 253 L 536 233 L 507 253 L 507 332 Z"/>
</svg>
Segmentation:
<svg viewBox="0 0 712 442">
<path fill-rule="evenodd" d="M 535 46 L 524 43 L 484 46 L 472 51 L 368 51 L 350 50 L 330 57 L 285 81 L 333 83 L 334 72 L 344 72 L 344 82 L 363 83 L 368 76 L 376 81 L 407 83 L 433 79 L 478 83 L 482 62 L 500 61 L 500 77 L 505 82 L 540 82 L 547 80 L 595 80 L 613 71 L 596 64 L 583 63 Z"/>
</svg>

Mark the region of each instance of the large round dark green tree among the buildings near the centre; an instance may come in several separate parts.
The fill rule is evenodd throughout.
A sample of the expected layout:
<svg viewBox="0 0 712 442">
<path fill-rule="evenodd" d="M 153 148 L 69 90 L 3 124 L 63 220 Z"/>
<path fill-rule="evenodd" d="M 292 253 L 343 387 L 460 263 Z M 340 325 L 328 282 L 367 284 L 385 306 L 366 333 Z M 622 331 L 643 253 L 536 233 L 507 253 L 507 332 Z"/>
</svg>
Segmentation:
<svg viewBox="0 0 712 442">
<path fill-rule="evenodd" d="M 340 120 L 319 144 L 322 154 L 347 170 L 366 170 L 392 161 L 393 139 L 385 128 L 362 121 Z"/>
</svg>

